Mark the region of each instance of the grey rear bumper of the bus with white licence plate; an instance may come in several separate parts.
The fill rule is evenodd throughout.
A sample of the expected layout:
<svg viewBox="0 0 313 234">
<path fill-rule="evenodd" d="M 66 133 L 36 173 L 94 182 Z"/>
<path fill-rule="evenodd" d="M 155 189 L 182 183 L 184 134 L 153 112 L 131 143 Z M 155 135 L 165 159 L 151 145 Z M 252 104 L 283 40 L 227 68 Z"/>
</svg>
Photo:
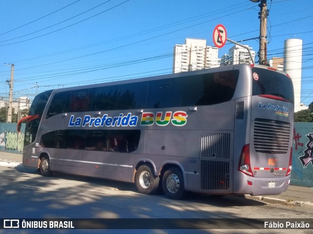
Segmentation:
<svg viewBox="0 0 313 234">
<path fill-rule="evenodd" d="M 244 176 L 245 180 L 240 187 L 234 185 L 235 194 L 256 195 L 277 195 L 288 189 L 291 176 L 275 177 L 275 178 L 260 178 Z"/>
</svg>

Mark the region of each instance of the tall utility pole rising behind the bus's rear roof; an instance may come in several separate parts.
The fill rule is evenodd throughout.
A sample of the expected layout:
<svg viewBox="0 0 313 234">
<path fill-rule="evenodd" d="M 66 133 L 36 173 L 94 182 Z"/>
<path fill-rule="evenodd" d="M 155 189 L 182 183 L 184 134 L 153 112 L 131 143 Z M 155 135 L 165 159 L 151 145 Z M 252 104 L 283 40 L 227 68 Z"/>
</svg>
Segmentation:
<svg viewBox="0 0 313 234">
<path fill-rule="evenodd" d="M 260 2 L 260 0 L 250 0 L 253 2 Z M 260 12 L 259 12 L 259 19 L 260 19 L 260 48 L 259 48 L 259 64 L 267 65 L 267 17 L 268 17 L 268 10 L 267 10 L 267 0 L 261 0 L 259 4 Z"/>
</svg>

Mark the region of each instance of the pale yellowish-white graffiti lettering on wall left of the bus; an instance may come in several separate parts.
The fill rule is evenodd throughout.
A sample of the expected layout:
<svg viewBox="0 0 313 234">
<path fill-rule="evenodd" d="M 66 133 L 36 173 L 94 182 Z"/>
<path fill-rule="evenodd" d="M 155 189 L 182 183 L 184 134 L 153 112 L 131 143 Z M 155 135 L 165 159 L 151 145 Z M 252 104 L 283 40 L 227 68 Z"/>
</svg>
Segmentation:
<svg viewBox="0 0 313 234">
<path fill-rule="evenodd" d="M 2 130 L 0 133 L 0 150 L 7 152 L 22 152 L 24 146 L 24 133 Z"/>
</svg>

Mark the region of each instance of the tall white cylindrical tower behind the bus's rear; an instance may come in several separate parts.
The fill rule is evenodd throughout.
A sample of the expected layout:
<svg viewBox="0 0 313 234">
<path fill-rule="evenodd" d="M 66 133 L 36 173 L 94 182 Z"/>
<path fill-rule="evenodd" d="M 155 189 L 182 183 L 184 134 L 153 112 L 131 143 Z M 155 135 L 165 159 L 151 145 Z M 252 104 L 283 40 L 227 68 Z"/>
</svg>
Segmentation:
<svg viewBox="0 0 313 234">
<path fill-rule="evenodd" d="M 301 104 L 302 40 L 287 39 L 284 43 L 284 71 L 291 77 L 294 88 L 294 112 L 304 109 Z"/>
</svg>

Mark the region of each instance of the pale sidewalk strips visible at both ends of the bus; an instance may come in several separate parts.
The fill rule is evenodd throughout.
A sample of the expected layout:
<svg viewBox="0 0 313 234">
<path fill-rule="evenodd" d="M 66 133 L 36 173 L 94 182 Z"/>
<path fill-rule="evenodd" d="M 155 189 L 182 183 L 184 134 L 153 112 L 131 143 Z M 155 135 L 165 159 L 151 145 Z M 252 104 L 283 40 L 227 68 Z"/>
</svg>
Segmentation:
<svg viewBox="0 0 313 234">
<path fill-rule="evenodd" d="M 22 166 L 22 154 L 0 152 L 0 166 L 17 167 Z M 313 208 L 313 188 L 290 185 L 287 191 L 279 195 L 250 196 L 248 199 L 280 203 L 291 206 Z"/>
</svg>

